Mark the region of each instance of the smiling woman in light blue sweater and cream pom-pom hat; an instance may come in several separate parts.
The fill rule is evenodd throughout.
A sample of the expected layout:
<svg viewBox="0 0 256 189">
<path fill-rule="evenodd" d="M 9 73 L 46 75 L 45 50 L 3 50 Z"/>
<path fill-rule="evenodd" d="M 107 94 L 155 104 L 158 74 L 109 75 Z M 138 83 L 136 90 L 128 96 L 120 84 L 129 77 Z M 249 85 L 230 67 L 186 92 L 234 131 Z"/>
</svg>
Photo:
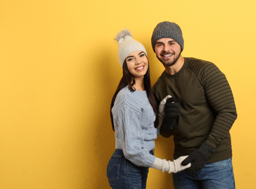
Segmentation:
<svg viewBox="0 0 256 189">
<path fill-rule="evenodd" d="M 159 120 L 147 52 L 127 30 L 119 32 L 116 41 L 119 41 L 123 77 L 111 102 L 116 150 L 108 162 L 107 176 L 112 188 L 140 189 L 146 186 L 149 167 L 170 173 L 186 169 L 190 164 L 180 164 L 187 156 L 166 161 L 153 155 Z"/>
</svg>

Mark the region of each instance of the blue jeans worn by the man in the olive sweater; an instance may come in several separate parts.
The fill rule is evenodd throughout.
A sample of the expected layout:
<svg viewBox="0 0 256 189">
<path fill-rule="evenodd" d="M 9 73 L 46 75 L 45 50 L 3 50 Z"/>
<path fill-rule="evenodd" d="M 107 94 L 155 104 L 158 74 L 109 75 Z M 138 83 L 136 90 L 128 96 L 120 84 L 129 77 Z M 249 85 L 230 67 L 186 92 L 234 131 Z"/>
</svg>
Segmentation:
<svg viewBox="0 0 256 189">
<path fill-rule="evenodd" d="M 234 189 L 235 178 L 233 176 L 232 158 L 206 164 L 199 172 L 187 171 L 172 174 L 175 189 Z"/>
</svg>

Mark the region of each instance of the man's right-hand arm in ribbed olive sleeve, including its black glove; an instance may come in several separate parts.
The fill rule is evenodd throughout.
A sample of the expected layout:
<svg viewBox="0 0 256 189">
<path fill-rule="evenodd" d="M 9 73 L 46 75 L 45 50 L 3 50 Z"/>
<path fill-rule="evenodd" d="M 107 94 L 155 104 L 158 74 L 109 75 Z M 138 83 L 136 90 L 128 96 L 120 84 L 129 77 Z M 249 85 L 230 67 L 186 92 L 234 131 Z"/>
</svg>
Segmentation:
<svg viewBox="0 0 256 189">
<path fill-rule="evenodd" d="M 183 165 L 191 163 L 188 168 L 191 172 L 204 168 L 208 157 L 221 144 L 237 117 L 233 94 L 225 75 L 214 64 L 207 64 L 203 70 L 201 84 L 216 118 L 207 140 L 182 162 Z"/>
</svg>

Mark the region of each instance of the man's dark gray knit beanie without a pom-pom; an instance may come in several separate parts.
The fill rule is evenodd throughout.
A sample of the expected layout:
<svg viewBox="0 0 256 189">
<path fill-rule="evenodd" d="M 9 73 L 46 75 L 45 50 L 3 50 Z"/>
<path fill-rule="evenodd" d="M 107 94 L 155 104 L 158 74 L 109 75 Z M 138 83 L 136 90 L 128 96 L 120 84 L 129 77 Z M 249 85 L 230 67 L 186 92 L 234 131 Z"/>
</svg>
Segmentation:
<svg viewBox="0 0 256 189">
<path fill-rule="evenodd" d="M 162 22 L 156 25 L 156 28 L 153 30 L 151 37 L 151 44 L 153 52 L 155 52 L 156 41 L 161 38 L 171 38 L 177 41 L 180 44 L 181 51 L 184 48 L 183 32 L 180 29 L 180 26 L 176 23 Z"/>
</svg>

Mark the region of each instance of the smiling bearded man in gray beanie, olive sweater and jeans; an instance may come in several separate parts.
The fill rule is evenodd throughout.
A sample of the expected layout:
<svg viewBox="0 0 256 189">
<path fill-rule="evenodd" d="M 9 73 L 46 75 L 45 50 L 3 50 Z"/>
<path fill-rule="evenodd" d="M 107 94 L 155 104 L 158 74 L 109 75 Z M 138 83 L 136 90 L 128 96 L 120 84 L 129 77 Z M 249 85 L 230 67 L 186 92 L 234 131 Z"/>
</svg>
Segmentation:
<svg viewBox="0 0 256 189">
<path fill-rule="evenodd" d="M 182 164 L 191 163 L 172 174 L 175 188 L 235 188 L 229 130 L 237 114 L 225 75 L 213 63 L 181 55 L 183 34 L 176 23 L 156 25 L 151 44 L 165 68 L 153 94 L 158 103 L 172 96 L 161 135 L 173 135 L 174 158 L 189 155 Z"/>
</svg>

